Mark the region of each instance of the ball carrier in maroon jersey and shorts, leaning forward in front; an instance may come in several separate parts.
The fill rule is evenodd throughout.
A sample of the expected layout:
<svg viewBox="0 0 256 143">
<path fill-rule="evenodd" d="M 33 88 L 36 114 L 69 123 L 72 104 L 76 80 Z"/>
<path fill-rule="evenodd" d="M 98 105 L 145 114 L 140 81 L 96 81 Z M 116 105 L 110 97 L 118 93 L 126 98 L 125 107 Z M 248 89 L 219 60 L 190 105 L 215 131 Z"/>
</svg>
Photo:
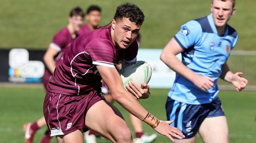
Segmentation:
<svg viewBox="0 0 256 143">
<path fill-rule="evenodd" d="M 51 136 L 59 143 L 83 143 L 88 128 L 114 143 L 131 143 L 132 136 L 121 113 L 103 97 L 101 80 L 112 97 L 154 130 L 174 138 L 185 137 L 177 128 L 161 121 L 135 99 L 148 98 L 149 86 L 129 82 L 126 91 L 115 66 L 136 61 L 138 45 L 134 42 L 144 14 L 133 4 L 117 7 L 111 24 L 79 36 L 62 55 L 47 85 L 44 116 Z M 60 116 L 59 116 L 60 115 Z"/>
</svg>

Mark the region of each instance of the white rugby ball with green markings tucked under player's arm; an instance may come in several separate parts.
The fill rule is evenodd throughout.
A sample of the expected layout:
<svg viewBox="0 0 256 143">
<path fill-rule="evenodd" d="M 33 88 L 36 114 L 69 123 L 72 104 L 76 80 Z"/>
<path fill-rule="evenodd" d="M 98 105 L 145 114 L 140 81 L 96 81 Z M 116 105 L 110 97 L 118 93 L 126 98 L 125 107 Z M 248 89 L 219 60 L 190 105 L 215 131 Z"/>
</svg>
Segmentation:
<svg viewBox="0 0 256 143">
<path fill-rule="evenodd" d="M 123 87 L 126 87 L 129 81 L 133 81 L 141 87 L 140 83 L 142 82 L 148 84 L 151 78 L 152 68 L 147 62 L 137 61 L 135 63 L 125 65 L 119 71 L 119 74 L 123 80 Z"/>
</svg>

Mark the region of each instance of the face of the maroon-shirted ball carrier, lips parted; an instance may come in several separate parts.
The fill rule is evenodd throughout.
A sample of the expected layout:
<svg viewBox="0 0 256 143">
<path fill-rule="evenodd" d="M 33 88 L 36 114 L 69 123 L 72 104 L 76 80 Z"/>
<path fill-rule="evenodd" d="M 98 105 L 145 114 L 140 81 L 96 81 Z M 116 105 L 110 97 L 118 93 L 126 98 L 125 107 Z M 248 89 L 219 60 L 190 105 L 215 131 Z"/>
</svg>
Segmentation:
<svg viewBox="0 0 256 143">
<path fill-rule="evenodd" d="M 128 18 L 112 20 L 111 36 L 114 45 L 120 49 L 127 49 L 136 39 L 140 26 L 131 22 Z"/>
</svg>

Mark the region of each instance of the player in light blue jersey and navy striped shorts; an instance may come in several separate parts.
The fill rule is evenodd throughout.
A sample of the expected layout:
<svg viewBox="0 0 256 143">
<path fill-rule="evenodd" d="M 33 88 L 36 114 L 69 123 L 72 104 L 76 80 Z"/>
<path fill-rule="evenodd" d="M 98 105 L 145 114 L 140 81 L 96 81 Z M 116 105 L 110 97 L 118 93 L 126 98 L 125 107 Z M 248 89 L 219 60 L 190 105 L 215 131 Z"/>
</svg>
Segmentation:
<svg viewBox="0 0 256 143">
<path fill-rule="evenodd" d="M 176 143 L 195 143 L 197 132 L 205 143 L 229 142 L 217 81 L 222 78 L 237 91 L 248 83 L 226 63 L 238 38 L 227 24 L 234 13 L 235 0 L 213 0 L 211 14 L 182 25 L 163 49 L 161 60 L 176 72 L 166 101 L 167 118 L 186 136 Z M 182 62 L 176 58 L 179 53 Z"/>
</svg>

